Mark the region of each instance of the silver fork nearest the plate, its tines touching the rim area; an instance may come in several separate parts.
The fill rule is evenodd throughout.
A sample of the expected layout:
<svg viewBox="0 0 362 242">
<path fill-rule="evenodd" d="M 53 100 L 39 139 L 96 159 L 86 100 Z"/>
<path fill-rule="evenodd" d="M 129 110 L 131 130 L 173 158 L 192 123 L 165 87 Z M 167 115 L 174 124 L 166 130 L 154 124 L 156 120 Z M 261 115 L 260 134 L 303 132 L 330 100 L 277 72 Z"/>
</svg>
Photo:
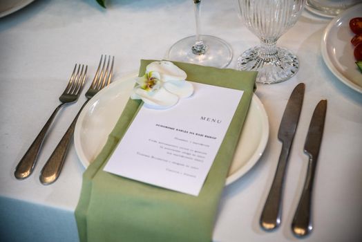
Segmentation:
<svg viewBox="0 0 362 242">
<path fill-rule="evenodd" d="M 107 60 L 108 59 L 108 60 Z M 75 119 L 73 120 L 72 124 L 70 124 L 70 127 L 64 134 L 63 138 L 61 138 L 59 144 L 53 151 L 52 155 L 44 165 L 43 169 L 41 169 L 40 174 L 40 182 L 43 185 L 49 185 L 51 183 L 54 183 L 55 180 L 59 177 L 61 168 L 64 165 L 64 158 L 66 156 L 66 151 L 68 150 L 70 140 L 73 136 L 75 124 L 77 122 L 77 118 L 79 114 L 82 112 L 82 109 L 84 106 L 88 103 L 90 98 L 92 98 L 99 90 L 103 89 L 104 86 L 108 86 L 108 84 L 111 83 L 111 77 L 113 74 L 113 62 L 115 57 L 112 57 L 111 62 L 111 56 L 101 56 L 101 59 L 99 61 L 99 65 L 97 68 L 97 73 L 95 73 L 94 80 L 92 84 L 90 84 L 90 87 L 88 91 L 86 92 L 86 102 L 84 102 L 82 108 L 79 110 L 77 115 L 75 116 Z M 111 65 L 110 65 L 111 62 Z"/>
</svg>

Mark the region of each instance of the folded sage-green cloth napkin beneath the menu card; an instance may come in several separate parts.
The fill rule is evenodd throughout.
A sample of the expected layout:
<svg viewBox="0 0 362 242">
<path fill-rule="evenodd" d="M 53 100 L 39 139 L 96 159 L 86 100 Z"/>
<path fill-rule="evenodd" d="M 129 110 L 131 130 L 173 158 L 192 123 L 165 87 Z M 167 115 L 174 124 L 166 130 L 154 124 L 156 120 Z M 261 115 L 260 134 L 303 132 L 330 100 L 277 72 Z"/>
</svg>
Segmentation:
<svg viewBox="0 0 362 242">
<path fill-rule="evenodd" d="M 141 61 L 140 76 L 151 62 L 153 60 Z M 140 100 L 128 100 L 106 145 L 84 172 L 82 192 L 75 210 L 80 241 L 212 240 L 218 203 L 249 109 L 257 73 L 173 63 L 186 71 L 189 81 L 244 91 L 199 196 L 103 171 L 113 149 L 142 106 Z"/>
</svg>

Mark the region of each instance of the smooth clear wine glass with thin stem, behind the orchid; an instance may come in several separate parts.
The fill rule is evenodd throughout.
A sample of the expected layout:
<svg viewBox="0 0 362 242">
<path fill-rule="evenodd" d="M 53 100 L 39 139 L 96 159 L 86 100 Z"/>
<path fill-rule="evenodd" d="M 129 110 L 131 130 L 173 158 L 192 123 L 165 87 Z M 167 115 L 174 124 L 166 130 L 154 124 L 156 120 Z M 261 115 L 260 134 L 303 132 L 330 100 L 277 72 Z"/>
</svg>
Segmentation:
<svg viewBox="0 0 362 242">
<path fill-rule="evenodd" d="M 233 57 L 231 47 L 218 37 L 200 34 L 201 0 L 193 0 L 193 3 L 196 35 L 180 39 L 173 44 L 166 53 L 166 59 L 203 66 L 226 67 Z"/>
</svg>

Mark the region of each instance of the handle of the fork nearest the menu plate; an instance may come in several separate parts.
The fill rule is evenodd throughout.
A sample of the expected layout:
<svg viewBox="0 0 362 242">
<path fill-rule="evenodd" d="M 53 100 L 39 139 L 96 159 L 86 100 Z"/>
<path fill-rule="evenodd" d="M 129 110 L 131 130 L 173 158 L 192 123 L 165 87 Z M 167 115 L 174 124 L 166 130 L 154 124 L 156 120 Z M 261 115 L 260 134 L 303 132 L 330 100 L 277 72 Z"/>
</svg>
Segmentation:
<svg viewBox="0 0 362 242">
<path fill-rule="evenodd" d="M 86 106 L 87 102 L 88 100 L 84 102 L 82 108 L 78 111 L 73 122 L 68 127 L 66 133 L 64 133 L 64 136 L 59 141 L 57 147 L 55 147 L 55 150 L 44 165 L 43 169 L 41 169 L 39 179 L 43 185 L 49 185 L 51 183 L 54 183 L 55 180 L 57 180 L 57 178 L 59 177 L 61 168 L 64 165 L 66 151 L 68 151 L 70 140 L 73 137 L 75 124 L 77 123 L 78 116 L 82 112 L 84 106 Z"/>
</svg>

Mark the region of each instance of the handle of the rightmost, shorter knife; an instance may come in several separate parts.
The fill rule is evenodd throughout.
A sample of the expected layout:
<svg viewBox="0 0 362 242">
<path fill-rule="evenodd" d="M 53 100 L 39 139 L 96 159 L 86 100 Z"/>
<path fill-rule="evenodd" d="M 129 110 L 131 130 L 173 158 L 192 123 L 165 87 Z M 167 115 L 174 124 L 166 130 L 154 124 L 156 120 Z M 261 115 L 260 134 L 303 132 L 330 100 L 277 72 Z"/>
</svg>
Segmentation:
<svg viewBox="0 0 362 242">
<path fill-rule="evenodd" d="M 311 202 L 315 171 L 316 162 L 314 162 L 313 157 L 309 155 L 307 176 L 305 178 L 303 192 L 292 221 L 292 231 L 296 236 L 305 236 L 312 232 L 313 229 L 311 220 Z"/>
</svg>

